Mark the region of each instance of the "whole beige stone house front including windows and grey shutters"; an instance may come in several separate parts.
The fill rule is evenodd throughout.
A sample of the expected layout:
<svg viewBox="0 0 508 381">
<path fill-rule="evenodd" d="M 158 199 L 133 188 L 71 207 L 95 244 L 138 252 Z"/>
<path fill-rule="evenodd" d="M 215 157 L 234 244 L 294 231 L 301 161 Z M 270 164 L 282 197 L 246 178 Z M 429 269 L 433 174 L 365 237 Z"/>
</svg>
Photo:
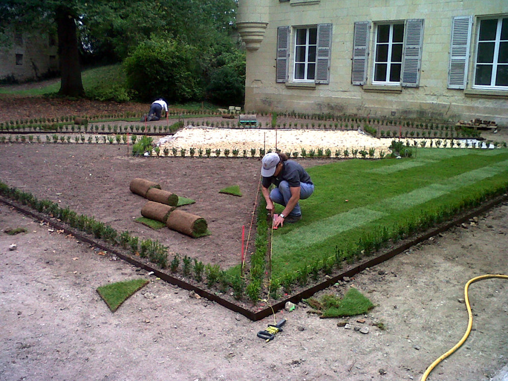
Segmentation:
<svg viewBox="0 0 508 381">
<path fill-rule="evenodd" d="M 247 48 L 247 112 L 481 118 L 508 125 L 505 0 L 239 0 L 238 5 Z M 321 26 L 331 30 L 331 41 Z M 317 80 L 321 55 L 321 70 L 328 73 Z"/>
</svg>

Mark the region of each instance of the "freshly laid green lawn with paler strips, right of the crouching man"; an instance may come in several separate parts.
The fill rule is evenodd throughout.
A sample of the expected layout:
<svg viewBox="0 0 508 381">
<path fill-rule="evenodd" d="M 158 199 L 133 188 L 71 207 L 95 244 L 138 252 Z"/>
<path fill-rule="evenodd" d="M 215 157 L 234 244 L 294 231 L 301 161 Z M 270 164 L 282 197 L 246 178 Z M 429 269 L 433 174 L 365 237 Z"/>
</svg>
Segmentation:
<svg viewBox="0 0 508 381">
<path fill-rule="evenodd" d="M 407 226 L 432 222 L 429 216 L 506 189 L 508 150 L 427 148 L 419 149 L 417 158 L 354 159 L 308 172 L 315 191 L 301 201 L 304 218 L 273 232 L 272 278 L 337 251 L 358 252 L 365 237 L 397 236 Z"/>
</svg>

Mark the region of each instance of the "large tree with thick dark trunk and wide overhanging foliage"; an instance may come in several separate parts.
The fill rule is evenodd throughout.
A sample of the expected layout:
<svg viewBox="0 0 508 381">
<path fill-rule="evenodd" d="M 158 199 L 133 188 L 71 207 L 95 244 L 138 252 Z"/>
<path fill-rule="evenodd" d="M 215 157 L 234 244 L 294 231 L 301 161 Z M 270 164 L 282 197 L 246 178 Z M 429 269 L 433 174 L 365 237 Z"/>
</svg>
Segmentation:
<svg viewBox="0 0 508 381">
<path fill-rule="evenodd" d="M 59 92 L 82 96 L 81 48 L 121 60 L 160 34 L 208 47 L 231 28 L 235 9 L 235 0 L 0 0 L 0 37 L 13 26 L 37 33 L 56 25 Z"/>
</svg>

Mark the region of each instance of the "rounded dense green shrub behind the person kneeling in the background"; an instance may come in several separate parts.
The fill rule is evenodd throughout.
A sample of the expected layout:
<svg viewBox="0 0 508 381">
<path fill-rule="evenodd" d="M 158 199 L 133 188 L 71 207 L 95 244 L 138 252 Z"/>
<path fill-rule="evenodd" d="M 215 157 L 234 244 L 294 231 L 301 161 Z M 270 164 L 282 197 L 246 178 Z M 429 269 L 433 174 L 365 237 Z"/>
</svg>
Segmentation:
<svg viewBox="0 0 508 381">
<path fill-rule="evenodd" d="M 169 38 L 145 41 L 123 62 L 127 84 L 144 101 L 155 96 L 169 102 L 199 99 L 199 55 L 196 48 Z"/>
</svg>

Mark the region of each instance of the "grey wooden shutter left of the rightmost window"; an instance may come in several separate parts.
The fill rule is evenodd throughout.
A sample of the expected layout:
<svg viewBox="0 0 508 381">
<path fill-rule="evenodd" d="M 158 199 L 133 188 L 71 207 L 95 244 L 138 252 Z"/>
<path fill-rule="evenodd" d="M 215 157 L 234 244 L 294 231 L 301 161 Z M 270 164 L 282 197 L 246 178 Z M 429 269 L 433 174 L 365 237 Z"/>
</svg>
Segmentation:
<svg viewBox="0 0 508 381">
<path fill-rule="evenodd" d="M 448 88 L 466 88 L 472 23 L 472 16 L 453 18 Z"/>
</svg>

